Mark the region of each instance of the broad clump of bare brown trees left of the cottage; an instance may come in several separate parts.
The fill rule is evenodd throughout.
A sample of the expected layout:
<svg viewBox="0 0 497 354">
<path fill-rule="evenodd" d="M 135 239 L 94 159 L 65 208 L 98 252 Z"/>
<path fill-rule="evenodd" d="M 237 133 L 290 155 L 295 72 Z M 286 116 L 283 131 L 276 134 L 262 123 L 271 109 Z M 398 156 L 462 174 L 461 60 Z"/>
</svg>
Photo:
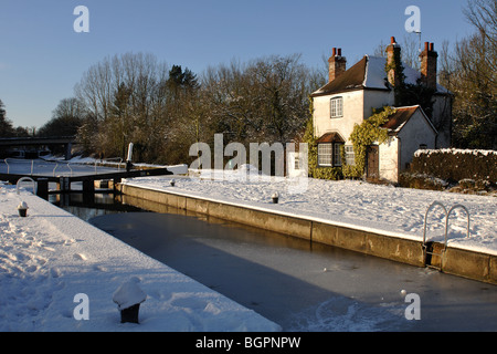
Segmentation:
<svg viewBox="0 0 497 354">
<path fill-rule="evenodd" d="M 303 129 L 308 95 L 324 82 L 299 55 L 209 67 L 201 79 L 154 55 L 126 53 L 88 69 L 75 92 L 87 108 L 80 137 L 94 153 L 186 163 L 191 144 L 288 142 Z M 319 85 L 318 85 L 319 84 Z"/>
</svg>

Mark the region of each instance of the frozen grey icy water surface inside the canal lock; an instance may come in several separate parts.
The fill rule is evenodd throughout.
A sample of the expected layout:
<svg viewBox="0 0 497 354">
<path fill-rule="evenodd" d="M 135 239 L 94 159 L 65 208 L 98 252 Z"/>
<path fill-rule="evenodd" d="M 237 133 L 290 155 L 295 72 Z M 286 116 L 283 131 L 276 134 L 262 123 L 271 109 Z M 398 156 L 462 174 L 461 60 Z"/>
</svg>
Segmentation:
<svg viewBox="0 0 497 354">
<path fill-rule="evenodd" d="M 284 331 L 497 331 L 497 287 L 209 221 L 134 212 L 91 219 Z M 406 320 L 405 293 L 419 294 L 421 320 Z"/>
</svg>

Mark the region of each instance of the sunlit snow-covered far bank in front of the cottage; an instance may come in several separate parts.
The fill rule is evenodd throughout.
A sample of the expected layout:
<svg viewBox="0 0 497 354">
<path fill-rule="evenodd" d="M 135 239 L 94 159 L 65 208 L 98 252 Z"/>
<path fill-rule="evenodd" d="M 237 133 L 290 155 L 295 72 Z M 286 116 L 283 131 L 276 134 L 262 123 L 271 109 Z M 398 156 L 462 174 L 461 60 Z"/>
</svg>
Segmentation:
<svg viewBox="0 0 497 354">
<path fill-rule="evenodd" d="M 497 254 L 497 198 L 493 196 L 396 188 L 351 180 L 309 178 L 305 183 L 296 183 L 295 179 L 260 176 L 250 170 L 193 175 L 197 177 L 133 178 L 125 183 L 420 241 L 423 240 L 425 214 L 432 202 L 442 202 L 447 211 L 453 206 L 463 205 L 469 211 L 469 237 L 466 212 L 457 208 L 450 216 L 448 246 Z M 170 184 L 172 178 L 175 187 Z M 303 192 L 295 192 L 298 189 L 296 185 L 305 187 Z M 272 202 L 275 192 L 279 195 L 277 205 Z M 434 207 L 427 215 L 426 239 L 444 242 L 444 232 L 445 212 L 441 207 Z"/>
</svg>

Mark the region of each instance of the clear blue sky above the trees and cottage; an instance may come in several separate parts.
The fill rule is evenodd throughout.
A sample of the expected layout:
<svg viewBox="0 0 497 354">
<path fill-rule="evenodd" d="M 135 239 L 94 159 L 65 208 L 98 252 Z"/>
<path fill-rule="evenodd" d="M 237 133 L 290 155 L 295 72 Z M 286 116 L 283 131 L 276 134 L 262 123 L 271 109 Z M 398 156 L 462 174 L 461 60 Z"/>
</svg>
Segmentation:
<svg viewBox="0 0 497 354">
<path fill-rule="evenodd" d="M 232 59 L 299 53 L 309 66 L 342 48 L 349 65 L 408 34 L 406 7 L 421 9 L 422 40 L 440 49 L 473 32 L 467 0 L 0 0 L 0 100 L 14 126 L 46 123 L 83 73 L 106 56 L 152 53 L 201 74 Z M 89 10 L 76 33 L 74 8 Z"/>
</svg>

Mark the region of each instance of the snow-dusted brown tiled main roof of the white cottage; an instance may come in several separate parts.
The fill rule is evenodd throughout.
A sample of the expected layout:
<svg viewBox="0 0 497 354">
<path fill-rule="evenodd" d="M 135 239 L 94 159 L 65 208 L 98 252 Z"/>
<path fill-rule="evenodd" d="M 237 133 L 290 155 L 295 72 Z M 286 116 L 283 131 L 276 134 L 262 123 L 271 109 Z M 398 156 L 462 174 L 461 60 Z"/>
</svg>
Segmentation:
<svg viewBox="0 0 497 354">
<path fill-rule="evenodd" d="M 385 72 L 387 58 L 364 55 L 343 74 L 314 92 L 311 96 L 330 95 L 353 90 L 391 90 Z M 421 73 L 403 63 L 405 83 L 416 84 Z M 448 91 L 437 85 L 438 93 Z"/>
</svg>

